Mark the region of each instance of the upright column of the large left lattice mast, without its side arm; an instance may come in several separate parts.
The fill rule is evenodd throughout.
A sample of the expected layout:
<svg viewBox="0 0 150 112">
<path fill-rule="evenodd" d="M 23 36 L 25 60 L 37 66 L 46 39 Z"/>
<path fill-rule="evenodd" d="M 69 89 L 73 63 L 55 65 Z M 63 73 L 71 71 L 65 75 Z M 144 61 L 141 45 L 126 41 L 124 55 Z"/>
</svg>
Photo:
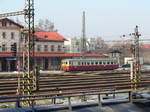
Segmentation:
<svg viewBox="0 0 150 112">
<path fill-rule="evenodd" d="M 35 89 L 35 73 L 34 73 L 34 0 L 26 0 L 25 3 L 25 23 L 27 32 L 24 38 L 23 46 L 23 78 L 21 95 L 32 95 Z M 31 106 L 31 102 L 25 102 Z"/>
</svg>

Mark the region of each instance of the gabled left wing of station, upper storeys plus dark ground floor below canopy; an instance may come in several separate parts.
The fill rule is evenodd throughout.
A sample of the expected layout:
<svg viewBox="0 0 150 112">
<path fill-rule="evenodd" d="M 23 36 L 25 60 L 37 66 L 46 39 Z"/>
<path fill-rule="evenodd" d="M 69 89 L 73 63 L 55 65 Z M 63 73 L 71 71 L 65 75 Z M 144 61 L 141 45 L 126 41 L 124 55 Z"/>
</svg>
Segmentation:
<svg viewBox="0 0 150 112">
<path fill-rule="evenodd" d="M 19 40 L 21 37 L 22 25 L 14 21 L 4 18 L 0 19 L 0 52 L 11 52 L 12 44 L 16 43 L 19 48 Z M 13 57 L 0 57 L 0 71 L 15 70 L 16 59 Z"/>
</svg>

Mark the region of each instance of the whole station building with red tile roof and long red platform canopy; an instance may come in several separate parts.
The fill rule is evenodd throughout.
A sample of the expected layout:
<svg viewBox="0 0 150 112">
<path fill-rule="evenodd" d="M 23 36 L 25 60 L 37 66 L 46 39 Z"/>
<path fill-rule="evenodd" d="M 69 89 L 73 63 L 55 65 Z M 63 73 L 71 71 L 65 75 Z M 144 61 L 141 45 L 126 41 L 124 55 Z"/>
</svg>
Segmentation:
<svg viewBox="0 0 150 112">
<path fill-rule="evenodd" d="M 24 27 L 8 18 L 0 19 L 0 71 L 15 71 L 22 59 L 22 29 Z M 61 60 L 80 58 L 80 53 L 66 53 L 65 37 L 58 32 L 35 32 L 35 63 L 42 70 L 59 70 Z M 18 54 L 14 57 L 11 45 L 16 43 Z M 107 57 L 105 54 L 84 54 L 85 58 Z"/>
</svg>

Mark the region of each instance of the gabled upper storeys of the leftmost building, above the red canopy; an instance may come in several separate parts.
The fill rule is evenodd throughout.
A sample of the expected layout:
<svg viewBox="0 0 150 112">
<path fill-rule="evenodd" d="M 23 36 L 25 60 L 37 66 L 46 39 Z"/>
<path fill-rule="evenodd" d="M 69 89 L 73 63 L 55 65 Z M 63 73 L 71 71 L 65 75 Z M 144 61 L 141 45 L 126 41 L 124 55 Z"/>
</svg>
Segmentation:
<svg viewBox="0 0 150 112">
<path fill-rule="evenodd" d="M 0 52 L 11 52 L 11 45 L 16 43 L 17 48 L 23 26 L 10 19 L 0 19 Z"/>
</svg>

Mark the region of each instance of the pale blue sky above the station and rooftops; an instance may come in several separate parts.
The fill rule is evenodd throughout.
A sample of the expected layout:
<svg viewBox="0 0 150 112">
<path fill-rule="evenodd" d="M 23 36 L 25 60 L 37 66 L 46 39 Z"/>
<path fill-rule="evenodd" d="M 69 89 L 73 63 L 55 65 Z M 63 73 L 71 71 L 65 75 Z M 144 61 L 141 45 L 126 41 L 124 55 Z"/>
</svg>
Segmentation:
<svg viewBox="0 0 150 112">
<path fill-rule="evenodd" d="M 25 0 L 0 0 L 0 13 L 24 9 Z M 150 0 L 35 0 L 35 21 L 49 19 L 65 37 L 81 36 L 86 13 L 86 36 L 120 39 L 139 26 L 150 37 Z M 23 20 L 23 17 L 15 17 Z"/>
</svg>

